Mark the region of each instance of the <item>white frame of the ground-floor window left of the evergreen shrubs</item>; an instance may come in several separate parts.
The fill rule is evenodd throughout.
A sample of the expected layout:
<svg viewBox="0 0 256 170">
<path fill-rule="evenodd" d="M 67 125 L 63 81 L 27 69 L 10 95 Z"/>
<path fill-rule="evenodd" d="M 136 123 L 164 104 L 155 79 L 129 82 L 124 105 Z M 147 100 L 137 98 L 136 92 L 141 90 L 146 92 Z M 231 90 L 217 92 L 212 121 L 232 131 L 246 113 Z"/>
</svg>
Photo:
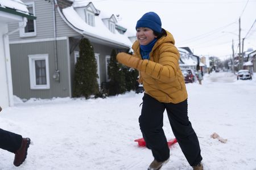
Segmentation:
<svg viewBox="0 0 256 170">
<path fill-rule="evenodd" d="M 33 54 L 28 55 L 29 70 L 30 70 L 30 88 L 32 90 L 44 90 L 50 88 L 49 82 L 49 59 L 48 54 Z M 36 84 L 35 61 L 46 60 L 46 84 Z"/>
</svg>

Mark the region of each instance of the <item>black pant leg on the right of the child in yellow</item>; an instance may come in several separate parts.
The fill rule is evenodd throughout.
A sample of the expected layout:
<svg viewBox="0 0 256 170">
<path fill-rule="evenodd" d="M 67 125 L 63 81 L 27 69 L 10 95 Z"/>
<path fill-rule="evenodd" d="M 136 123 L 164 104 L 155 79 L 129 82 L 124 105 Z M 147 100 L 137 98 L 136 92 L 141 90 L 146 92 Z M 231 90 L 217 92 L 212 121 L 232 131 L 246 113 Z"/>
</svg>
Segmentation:
<svg viewBox="0 0 256 170">
<path fill-rule="evenodd" d="M 199 141 L 191 122 L 188 120 L 188 103 L 187 100 L 178 104 L 166 104 L 168 118 L 172 131 L 180 145 L 188 163 L 197 165 L 203 159 Z"/>
</svg>

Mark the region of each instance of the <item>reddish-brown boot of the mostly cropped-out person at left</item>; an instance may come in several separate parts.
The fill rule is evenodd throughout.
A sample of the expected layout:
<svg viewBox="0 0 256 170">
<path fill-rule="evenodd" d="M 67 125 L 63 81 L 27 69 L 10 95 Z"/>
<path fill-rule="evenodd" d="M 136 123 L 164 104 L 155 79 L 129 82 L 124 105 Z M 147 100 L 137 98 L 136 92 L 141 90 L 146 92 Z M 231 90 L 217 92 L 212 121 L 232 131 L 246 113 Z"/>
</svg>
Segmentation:
<svg viewBox="0 0 256 170">
<path fill-rule="evenodd" d="M 22 138 L 22 144 L 18 151 L 15 152 L 13 164 L 19 167 L 27 158 L 27 149 L 30 147 L 30 138 Z"/>
</svg>

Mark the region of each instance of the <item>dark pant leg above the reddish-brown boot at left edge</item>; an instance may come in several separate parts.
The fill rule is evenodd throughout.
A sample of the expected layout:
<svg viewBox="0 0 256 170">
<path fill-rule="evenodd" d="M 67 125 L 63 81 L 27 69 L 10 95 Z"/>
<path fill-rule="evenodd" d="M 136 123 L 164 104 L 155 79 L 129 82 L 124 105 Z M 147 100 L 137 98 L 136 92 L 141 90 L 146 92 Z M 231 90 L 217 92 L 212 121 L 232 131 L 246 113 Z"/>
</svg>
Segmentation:
<svg viewBox="0 0 256 170">
<path fill-rule="evenodd" d="M 22 136 L 0 129 L 0 148 L 15 153 L 22 143 Z"/>
</svg>

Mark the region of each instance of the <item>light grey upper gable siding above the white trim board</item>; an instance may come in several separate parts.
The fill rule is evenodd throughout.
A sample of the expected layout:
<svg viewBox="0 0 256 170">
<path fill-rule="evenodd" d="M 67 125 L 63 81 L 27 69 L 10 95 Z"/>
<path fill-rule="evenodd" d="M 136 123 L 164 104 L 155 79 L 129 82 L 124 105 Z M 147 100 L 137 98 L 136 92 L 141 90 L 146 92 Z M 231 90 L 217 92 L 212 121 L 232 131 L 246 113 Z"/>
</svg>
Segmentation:
<svg viewBox="0 0 256 170">
<path fill-rule="evenodd" d="M 36 18 L 36 36 L 34 37 L 20 37 L 19 31 L 13 33 L 9 36 L 10 42 L 12 41 L 22 41 L 22 40 L 36 40 L 36 39 L 47 39 L 54 37 L 54 29 L 53 29 L 53 8 L 52 4 L 48 1 L 36 0 L 29 1 L 23 0 L 23 3 L 35 3 L 35 16 Z M 59 12 L 56 8 L 56 36 L 79 36 L 80 34 L 74 31 L 71 27 L 69 27 L 64 20 L 61 18 Z M 18 28 L 18 23 L 8 24 L 9 31 L 13 31 Z"/>
</svg>

